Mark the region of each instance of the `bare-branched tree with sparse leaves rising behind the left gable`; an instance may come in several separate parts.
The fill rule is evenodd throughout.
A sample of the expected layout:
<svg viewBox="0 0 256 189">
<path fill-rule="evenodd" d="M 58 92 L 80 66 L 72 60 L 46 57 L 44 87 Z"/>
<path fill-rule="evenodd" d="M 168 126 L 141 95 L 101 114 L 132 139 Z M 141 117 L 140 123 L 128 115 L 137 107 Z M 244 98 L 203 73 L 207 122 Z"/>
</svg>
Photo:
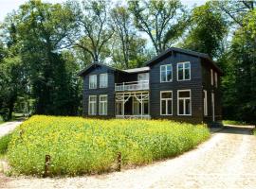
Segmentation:
<svg viewBox="0 0 256 189">
<path fill-rule="evenodd" d="M 71 5 L 76 12 L 77 35 L 69 37 L 69 40 L 88 53 L 94 62 L 104 60 L 107 42 L 114 33 L 107 5 L 103 0 L 82 1 L 82 8 L 74 2 Z"/>
</svg>

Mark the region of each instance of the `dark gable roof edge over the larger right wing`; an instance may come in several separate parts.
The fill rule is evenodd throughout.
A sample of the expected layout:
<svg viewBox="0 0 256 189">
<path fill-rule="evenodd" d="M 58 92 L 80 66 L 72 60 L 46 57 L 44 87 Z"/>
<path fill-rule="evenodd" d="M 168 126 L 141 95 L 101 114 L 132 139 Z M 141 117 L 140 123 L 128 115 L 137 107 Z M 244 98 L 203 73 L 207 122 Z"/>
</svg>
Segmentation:
<svg viewBox="0 0 256 189">
<path fill-rule="evenodd" d="M 188 50 L 188 49 L 182 49 L 182 48 L 176 48 L 176 47 L 171 47 L 167 50 L 165 50 L 164 52 L 160 53 L 159 55 L 157 55 L 155 58 L 153 58 L 152 60 L 148 60 L 145 65 L 150 66 L 152 65 L 155 61 L 160 60 L 161 58 L 167 56 L 169 53 L 173 53 L 173 52 L 179 52 L 179 53 L 183 53 L 183 54 L 187 54 L 187 55 L 192 55 L 194 57 L 199 57 L 205 60 L 209 60 L 210 64 L 221 74 L 223 74 L 222 70 L 216 65 L 216 63 L 210 59 L 210 56 L 208 54 L 205 53 L 199 53 L 199 52 L 195 52 L 192 50 Z"/>
</svg>

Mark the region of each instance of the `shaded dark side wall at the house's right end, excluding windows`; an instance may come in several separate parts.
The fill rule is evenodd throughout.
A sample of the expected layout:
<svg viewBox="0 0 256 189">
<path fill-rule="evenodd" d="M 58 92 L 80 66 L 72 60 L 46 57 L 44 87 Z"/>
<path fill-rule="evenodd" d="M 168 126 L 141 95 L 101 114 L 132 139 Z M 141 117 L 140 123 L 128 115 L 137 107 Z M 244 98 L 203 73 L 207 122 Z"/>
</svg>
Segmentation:
<svg viewBox="0 0 256 189">
<path fill-rule="evenodd" d="M 221 106 L 221 91 L 220 91 L 220 83 L 221 77 L 220 74 L 210 66 L 210 63 L 207 60 L 202 60 L 202 76 L 203 76 L 203 90 L 207 91 L 207 103 L 208 103 L 208 116 L 204 116 L 204 122 L 210 123 L 212 122 L 212 103 L 211 103 L 211 93 L 215 95 L 215 121 L 222 120 L 222 106 Z M 210 83 L 210 69 L 213 71 L 213 85 Z M 218 86 L 215 87 L 215 78 L 214 73 L 218 73 Z"/>
</svg>

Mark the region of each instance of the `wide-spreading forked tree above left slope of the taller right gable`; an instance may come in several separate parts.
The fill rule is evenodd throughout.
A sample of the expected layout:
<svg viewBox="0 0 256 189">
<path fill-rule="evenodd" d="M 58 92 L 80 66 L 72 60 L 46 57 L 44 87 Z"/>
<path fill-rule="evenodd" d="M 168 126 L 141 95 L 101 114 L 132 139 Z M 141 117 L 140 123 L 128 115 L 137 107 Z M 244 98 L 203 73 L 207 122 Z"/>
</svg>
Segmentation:
<svg viewBox="0 0 256 189">
<path fill-rule="evenodd" d="M 159 54 L 173 44 L 187 26 L 187 13 L 178 0 L 130 1 L 135 26 L 145 32 Z"/>
</svg>

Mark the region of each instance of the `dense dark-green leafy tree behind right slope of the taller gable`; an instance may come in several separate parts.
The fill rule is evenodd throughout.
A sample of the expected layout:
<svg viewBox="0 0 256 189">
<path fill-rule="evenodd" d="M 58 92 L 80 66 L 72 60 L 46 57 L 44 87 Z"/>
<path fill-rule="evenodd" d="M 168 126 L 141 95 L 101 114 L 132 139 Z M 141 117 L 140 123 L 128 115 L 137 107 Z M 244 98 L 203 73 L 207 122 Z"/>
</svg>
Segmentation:
<svg viewBox="0 0 256 189">
<path fill-rule="evenodd" d="M 216 58 L 221 42 L 228 34 L 228 26 L 220 11 L 210 2 L 192 10 L 191 28 L 182 47 L 206 53 Z"/>
</svg>

